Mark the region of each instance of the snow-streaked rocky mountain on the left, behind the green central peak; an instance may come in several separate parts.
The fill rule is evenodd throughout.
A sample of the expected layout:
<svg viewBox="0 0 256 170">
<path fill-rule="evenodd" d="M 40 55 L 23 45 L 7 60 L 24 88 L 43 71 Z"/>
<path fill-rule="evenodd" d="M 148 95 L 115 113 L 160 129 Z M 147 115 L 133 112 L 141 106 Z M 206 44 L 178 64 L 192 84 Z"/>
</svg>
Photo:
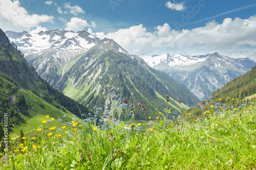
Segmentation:
<svg viewBox="0 0 256 170">
<path fill-rule="evenodd" d="M 38 33 L 6 31 L 6 35 L 24 53 L 29 65 L 33 65 L 38 74 L 53 86 L 63 77 L 67 64 L 74 57 L 87 52 L 96 44 L 113 42 L 108 38 L 100 40 L 86 31 L 75 33 L 60 29 Z M 129 54 L 117 43 L 113 49 Z"/>
</svg>

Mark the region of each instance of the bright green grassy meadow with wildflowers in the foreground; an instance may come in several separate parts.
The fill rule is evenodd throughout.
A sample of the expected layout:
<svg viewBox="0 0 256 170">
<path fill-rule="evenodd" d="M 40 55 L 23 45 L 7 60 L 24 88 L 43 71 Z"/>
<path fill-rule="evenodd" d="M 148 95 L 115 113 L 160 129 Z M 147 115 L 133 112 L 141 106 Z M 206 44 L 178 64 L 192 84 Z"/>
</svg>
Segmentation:
<svg viewBox="0 0 256 170">
<path fill-rule="evenodd" d="M 97 117 L 107 123 L 67 125 L 70 134 L 50 130 L 46 123 L 26 139 L 10 142 L 9 165 L 2 169 L 256 169 L 254 106 L 214 105 L 200 108 L 200 117 L 183 115 L 183 123 L 181 118 L 156 120 L 153 112 L 155 124 L 149 129 L 136 122 L 112 122 L 102 113 Z M 132 108 L 126 108 L 129 114 Z"/>
</svg>

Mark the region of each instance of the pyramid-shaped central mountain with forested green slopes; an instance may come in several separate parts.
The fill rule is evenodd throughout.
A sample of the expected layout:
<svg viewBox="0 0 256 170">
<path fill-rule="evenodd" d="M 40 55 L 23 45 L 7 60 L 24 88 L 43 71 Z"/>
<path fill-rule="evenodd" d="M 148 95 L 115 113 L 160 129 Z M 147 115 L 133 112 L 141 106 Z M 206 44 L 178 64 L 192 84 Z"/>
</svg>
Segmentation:
<svg viewBox="0 0 256 170">
<path fill-rule="evenodd" d="M 184 101 L 183 109 L 198 102 L 198 99 L 184 85 L 161 71 L 148 66 L 142 59 L 124 51 L 116 42 L 104 39 L 88 52 L 79 55 L 67 65 L 56 88 L 88 107 L 120 105 L 123 99 L 136 104 L 137 118 L 144 119 L 144 113 L 137 104 L 154 102 L 162 112 L 166 107 L 164 94 L 172 98 L 169 107 L 172 114 L 180 114 L 178 99 Z M 146 108 L 146 113 L 151 114 Z"/>
</svg>

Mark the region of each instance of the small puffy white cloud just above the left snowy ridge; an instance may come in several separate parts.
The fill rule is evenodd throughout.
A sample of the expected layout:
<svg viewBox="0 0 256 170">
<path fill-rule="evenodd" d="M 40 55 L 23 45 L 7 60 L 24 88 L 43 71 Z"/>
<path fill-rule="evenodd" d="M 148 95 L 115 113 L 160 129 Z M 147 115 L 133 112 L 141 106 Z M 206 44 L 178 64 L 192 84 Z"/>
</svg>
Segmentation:
<svg viewBox="0 0 256 170">
<path fill-rule="evenodd" d="M 73 17 L 66 24 L 65 30 L 72 30 L 74 32 L 84 30 L 85 27 L 90 27 L 89 23 L 86 20 L 83 20 L 78 17 Z"/>
</svg>

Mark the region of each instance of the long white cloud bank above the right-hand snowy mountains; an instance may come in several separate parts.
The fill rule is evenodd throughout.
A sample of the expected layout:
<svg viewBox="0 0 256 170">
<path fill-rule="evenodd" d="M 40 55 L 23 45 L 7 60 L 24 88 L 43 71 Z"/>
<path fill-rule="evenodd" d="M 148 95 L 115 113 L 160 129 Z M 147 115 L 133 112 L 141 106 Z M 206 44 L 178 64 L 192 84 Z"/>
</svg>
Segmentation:
<svg viewBox="0 0 256 170">
<path fill-rule="evenodd" d="M 154 32 L 147 32 L 143 25 L 138 25 L 106 35 L 95 35 L 101 39 L 114 39 L 125 50 L 137 55 L 153 54 L 166 49 L 184 54 L 195 52 L 196 49 L 198 52 L 223 51 L 231 57 L 251 58 L 249 55 L 254 54 L 256 59 L 256 16 L 248 19 L 226 18 L 222 23 L 210 21 L 204 27 L 192 30 L 177 31 L 165 23 L 156 27 Z M 244 44 L 247 45 L 246 49 Z M 241 50 L 243 55 L 239 52 Z"/>
</svg>

